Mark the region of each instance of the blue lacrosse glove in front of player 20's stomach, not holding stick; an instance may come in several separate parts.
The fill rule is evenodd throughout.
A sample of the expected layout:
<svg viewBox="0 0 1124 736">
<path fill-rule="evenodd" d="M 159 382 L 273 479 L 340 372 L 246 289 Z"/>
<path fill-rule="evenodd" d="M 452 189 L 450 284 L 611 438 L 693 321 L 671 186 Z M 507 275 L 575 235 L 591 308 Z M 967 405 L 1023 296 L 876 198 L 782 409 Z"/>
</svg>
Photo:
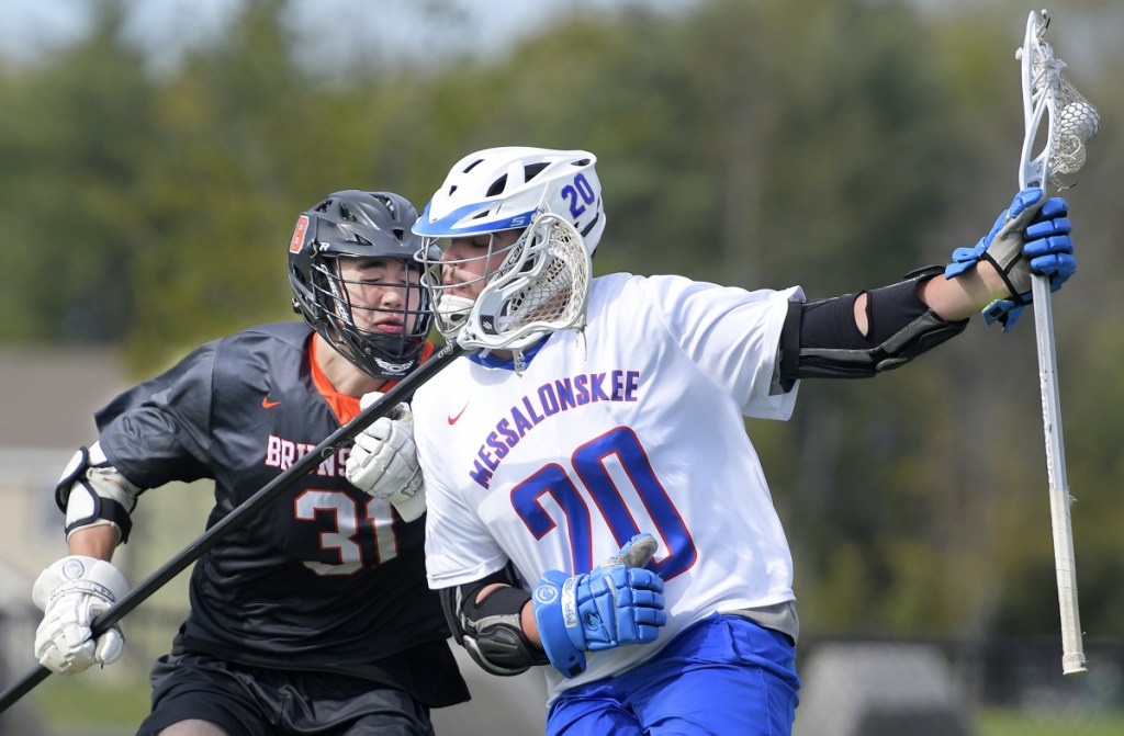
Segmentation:
<svg viewBox="0 0 1124 736">
<path fill-rule="evenodd" d="M 538 636 L 564 676 L 586 671 L 583 652 L 649 644 L 659 636 L 668 623 L 663 580 L 644 569 L 656 546 L 651 534 L 637 534 L 599 567 L 577 575 L 549 570 L 535 585 Z"/>
</svg>

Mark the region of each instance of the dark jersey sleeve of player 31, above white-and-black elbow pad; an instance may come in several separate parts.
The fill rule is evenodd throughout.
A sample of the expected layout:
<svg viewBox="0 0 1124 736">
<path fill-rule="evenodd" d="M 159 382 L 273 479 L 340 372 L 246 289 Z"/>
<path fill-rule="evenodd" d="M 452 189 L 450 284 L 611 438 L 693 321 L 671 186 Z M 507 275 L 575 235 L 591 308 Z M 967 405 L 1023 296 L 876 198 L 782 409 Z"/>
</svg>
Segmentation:
<svg viewBox="0 0 1124 736">
<path fill-rule="evenodd" d="M 137 487 L 210 478 L 215 352 L 203 345 L 94 415 L 106 457 Z"/>
</svg>

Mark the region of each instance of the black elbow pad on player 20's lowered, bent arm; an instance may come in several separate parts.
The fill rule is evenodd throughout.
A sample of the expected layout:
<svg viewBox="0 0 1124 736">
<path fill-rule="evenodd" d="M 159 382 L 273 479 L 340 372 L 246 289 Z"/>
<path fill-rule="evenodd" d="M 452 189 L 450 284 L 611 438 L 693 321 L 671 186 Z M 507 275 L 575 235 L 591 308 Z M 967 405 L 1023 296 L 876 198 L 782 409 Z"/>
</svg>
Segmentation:
<svg viewBox="0 0 1124 736">
<path fill-rule="evenodd" d="M 480 590 L 495 582 L 505 587 L 477 603 Z M 510 587 L 505 573 L 469 585 L 445 588 L 438 594 L 453 637 L 486 672 L 516 675 L 532 666 L 550 664 L 546 653 L 531 643 L 520 624 L 531 593 Z"/>
</svg>

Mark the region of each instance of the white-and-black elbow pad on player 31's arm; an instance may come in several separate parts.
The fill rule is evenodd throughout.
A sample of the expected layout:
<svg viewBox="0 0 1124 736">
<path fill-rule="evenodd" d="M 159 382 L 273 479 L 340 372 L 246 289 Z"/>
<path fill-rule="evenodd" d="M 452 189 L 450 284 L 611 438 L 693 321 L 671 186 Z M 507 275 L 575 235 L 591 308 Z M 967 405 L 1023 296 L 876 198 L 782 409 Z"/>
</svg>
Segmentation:
<svg viewBox="0 0 1124 736">
<path fill-rule="evenodd" d="M 133 530 L 133 509 L 140 489 L 109 464 L 101 446 L 80 447 L 55 485 L 55 503 L 66 514 L 66 538 L 78 529 L 111 525 L 121 544 Z"/>
</svg>

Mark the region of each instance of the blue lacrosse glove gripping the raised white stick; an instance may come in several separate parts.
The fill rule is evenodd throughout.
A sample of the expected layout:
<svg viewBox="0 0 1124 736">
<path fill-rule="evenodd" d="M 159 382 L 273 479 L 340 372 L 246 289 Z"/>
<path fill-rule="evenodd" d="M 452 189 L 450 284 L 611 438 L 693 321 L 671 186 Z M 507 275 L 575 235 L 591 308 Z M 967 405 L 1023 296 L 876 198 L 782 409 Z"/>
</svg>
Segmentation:
<svg viewBox="0 0 1124 736">
<path fill-rule="evenodd" d="M 987 324 L 998 321 L 1009 331 L 1026 305 L 1031 303 L 1031 274 L 1050 279 L 1050 291 L 1058 291 L 1077 271 L 1073 242 L 1069 234 L 1069 205 L 1060 197 L 1042 200 L 1042 190 L 1032 187 L 1015 196 L 1010 208 L 999 215 L 991 231 L 975 247 L 957 248 L 944 270 L 951 279 L 980 261 L 990 262 L 1010 291 L 1010 297 L 987 306 Z M 1041 205 L 1040 205 L 1041 201 Z"/>
</svg>

